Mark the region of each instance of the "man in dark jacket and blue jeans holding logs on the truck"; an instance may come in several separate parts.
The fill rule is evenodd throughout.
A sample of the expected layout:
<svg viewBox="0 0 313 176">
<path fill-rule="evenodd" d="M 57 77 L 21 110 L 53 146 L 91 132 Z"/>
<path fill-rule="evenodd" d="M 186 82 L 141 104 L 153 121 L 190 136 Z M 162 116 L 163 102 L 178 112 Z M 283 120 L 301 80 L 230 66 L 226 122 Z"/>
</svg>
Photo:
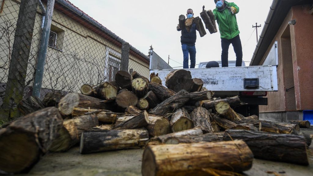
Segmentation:
<svg viewBox="0 0 313 176">
<path fill-rule="evenodd" d="M 193 11 L 192 9 L 187 10 L 187 18 L 193 18 Z M 177 31 L 182 31 L 181 36 L 181 43 L 182 43 L 182 53 L 184 54 L 184 62 L 183 62 L 183 68 L 187 69 L 188 62 L 189 62 L 189 54 L 190 54 L 190 68 L 195 68 L 196 65 L 196 24 L 192 23 L 192 27 L 190 29 L 190 32 L 187 31 L 186 28 L 184 30 L 181 30 L 179 25 L 177 26 Z"/>
</svg>

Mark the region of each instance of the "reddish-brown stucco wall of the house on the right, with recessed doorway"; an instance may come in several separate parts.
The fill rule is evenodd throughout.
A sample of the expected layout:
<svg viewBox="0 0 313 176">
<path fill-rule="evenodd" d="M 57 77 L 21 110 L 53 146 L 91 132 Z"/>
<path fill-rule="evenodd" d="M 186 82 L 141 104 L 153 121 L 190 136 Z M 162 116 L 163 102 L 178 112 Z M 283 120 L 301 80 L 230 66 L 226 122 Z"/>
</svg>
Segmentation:
<svg viewBox="0 0 313 176">
<path fill-rule="evenodd" d="M 297 20 L 295 25 L 288 24 L 292 19 Z M 268 106 L 259 107 L 261 118 L 279 121 L 302 120 L 300 111 L 313 109 L 312 28 L 313 18 L 309 14 L 309 6 L 294 6 L 290 9 L 259 64 L 262 65 L 272 45 L 278 41 L 279 91 L 268 92 Z M 292 88 L 293 86 L 295 88 Z"/>
</svg>

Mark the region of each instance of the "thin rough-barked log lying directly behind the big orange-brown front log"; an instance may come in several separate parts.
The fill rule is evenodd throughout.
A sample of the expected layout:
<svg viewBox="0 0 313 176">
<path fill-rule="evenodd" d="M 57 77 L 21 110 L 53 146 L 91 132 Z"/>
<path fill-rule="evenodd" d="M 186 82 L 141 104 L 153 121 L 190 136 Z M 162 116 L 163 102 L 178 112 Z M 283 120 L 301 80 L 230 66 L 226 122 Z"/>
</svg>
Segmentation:
<svg viewBox="0 0 313 176">
<path fill-rule="evenodd" d="M 206 133 L 195 136 L 169 137 L 165 144 L 179 144 L 179 143 L 197 143 L 197 142 L 217 142 L 221 141 L 218 135 L 214 133 Z"/>
</svg>

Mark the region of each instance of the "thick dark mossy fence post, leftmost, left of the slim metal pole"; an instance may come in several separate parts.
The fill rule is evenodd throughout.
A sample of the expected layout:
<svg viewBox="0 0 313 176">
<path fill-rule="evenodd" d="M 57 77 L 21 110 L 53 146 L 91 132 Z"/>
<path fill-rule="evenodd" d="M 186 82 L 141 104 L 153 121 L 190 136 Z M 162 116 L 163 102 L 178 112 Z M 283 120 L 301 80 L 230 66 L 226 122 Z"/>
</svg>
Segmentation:
<svg viewBox="0 0 313 176">
<path fill-rule="evenodd" d="M 23 99 L 37 6 L 37 0 L 21 1 L 7 87 L 2 112 L 0 112 L 0 120 L 2 121 L 8 121 L 10 118 L 16 118 L 20 115 L 17 105 Z"/>
</svg>

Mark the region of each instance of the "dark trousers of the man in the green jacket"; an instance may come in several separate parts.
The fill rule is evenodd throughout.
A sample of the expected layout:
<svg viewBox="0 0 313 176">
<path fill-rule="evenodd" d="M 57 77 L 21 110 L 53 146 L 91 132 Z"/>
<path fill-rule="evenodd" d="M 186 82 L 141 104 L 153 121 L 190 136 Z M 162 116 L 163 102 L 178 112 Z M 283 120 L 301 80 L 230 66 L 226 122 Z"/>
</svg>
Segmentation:
<svg viewBox="0 0 313 176">
<path fill-rule="evenodd" d="M 239 35 L 233 39 L 222 39 L 222 67 L 228 67 L 228 49 L 232 44 L 236 53 L 236 67 L 242 65 L 242 46 Z"/>
</svg>

